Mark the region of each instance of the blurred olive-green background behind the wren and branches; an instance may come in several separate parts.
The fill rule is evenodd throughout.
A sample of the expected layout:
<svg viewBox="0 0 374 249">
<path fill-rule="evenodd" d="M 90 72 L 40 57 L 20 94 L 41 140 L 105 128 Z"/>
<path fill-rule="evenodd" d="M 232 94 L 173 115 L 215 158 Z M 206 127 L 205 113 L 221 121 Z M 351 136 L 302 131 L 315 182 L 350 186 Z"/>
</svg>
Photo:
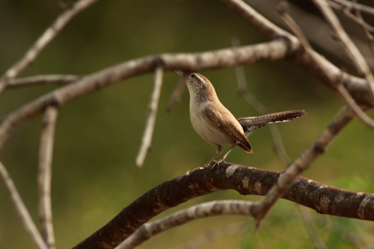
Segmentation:
<svg viewBox="0 0 374 249">
<path fill-rule="evenodd" d="M 57 1 L 0 1 L 0 71 L 15 63 L 61 13 Z M 98 1 L 76 16 L 21 76 L 89 74 L 129 59 L 165 52 L 200 52 L 268 40 L 220 1 Z M 341 66 L 341 65 L 338 65 Z M 286 61 L 245 66 L 248 88 L 274 112 L 306 109 L 305 118 L 280 124 L 286 150 L 295 159 L 326 127 L 343 101 L 297 66 Z M 234 114 L 258 115 L 239 97 L 233 68 L 202 72 L 221 102 Z M 171 113 L 166 103 L 178 76 L 166 72 L 152 149 L 144 167 L 135 156 L 145 124 L 152 75 L 116 83 L 61 109 L 55 136 L 52 204 L 58 248 L 71 248 L 113 218 L 123 207 L 163 181 L 202 166 L 215 153 L 193 130 L 188 91 Z M 0 97 L 0 115 L 58 86 L 8 89 Z M 373 116 L 373 111 L 368 112 Z M 37 222 L 36 178 L 42 115 L 20 125 L 0 150 Z M 267 127 L 249 138 L 253 155 L 236 148 L 227 161 L 282 171 Z M 324 184 L 361 192 L 374 190 L 373 130 L 354 120 L 327 152 L 304 172 Z M 227 149 L 226 147 L 224 148 Z M 259 200 L 222 191 L 199 197 L 161 214 L 216 199 Z M 25 232 L 6 190 L 0 187 L 0 248 L 36 248 Z M 311 211 L 329 248 L 356 248 L 374 242 L 373 222 L 328 217 Z M 159 218 L 156 217 L 156 218 Z M 281 200 L 252 234 L 249 217 L 206 218 L 160 234 L 140 248 L 171 248 L 212 228 L 248 221 L 250 229 L 224 236 L 204 248 L 314 248 L 295 203 Z"/>
</svg>

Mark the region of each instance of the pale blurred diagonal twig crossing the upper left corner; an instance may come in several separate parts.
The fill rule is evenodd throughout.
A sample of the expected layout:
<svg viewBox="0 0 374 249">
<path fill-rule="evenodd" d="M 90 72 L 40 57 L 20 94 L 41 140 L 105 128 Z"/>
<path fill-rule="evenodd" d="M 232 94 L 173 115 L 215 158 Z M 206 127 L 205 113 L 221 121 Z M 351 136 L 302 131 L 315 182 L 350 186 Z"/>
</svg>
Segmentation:
<svg viewBox="0 0 374 249">
<path fill-rule="evenodd" d="M 9 68 L 0 78 L 0 93 L 4 90 L 10 80 L 17 77 L 27 66 L 34 62 L 39 53 L 56 37 L 65 25 L 79 12 L 95 3 L 97 0 L 79 0 L 61 13 L 48 27 L 36 42 L 28 49 L 26 54 L 15 65 Z"/>
</svg>

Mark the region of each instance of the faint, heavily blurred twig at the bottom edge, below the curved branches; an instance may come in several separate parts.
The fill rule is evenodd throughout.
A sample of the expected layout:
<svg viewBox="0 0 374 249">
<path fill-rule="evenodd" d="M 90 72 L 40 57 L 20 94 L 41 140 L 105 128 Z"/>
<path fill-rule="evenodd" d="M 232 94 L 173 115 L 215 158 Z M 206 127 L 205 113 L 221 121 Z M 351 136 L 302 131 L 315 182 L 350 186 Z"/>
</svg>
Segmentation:
<svg viewBox="0 0 374 249">
<path fill-rule="evenodd" d="M 219 239 L 226 235 L 243 233 L 249 229 L 249 222 L 236 222 L 223 227 L 218 227 L 208 231 L 185 245 L 175 246 L 172 249 L 198 249 L 205 246 L 212 240 Z"/>
</svg>

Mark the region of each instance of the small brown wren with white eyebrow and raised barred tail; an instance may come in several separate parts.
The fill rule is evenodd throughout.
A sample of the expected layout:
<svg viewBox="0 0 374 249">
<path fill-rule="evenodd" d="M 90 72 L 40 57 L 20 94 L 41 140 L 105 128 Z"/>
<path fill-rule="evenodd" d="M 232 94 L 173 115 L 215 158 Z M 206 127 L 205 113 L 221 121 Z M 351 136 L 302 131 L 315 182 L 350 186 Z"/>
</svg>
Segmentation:
<svg viewBox="0 0 374 249">
<path fill-rule="evenodd" d="M 215 164 L 223 162 L 237 145 L 247 153 L 253 153 L 247 136 L 254 130 L 274 122 L 291 121 L 306 115 L 305 110 L 271 113 L 256 117 L 236 119 L 217 97 L 212 83 L 198 73 L 183 74 L 190 92 L 191 124 L 197 134 L 208 143 L 217 146 L 217 153 L 204 165 L 211 164 L 222 152 L 222 145 L 231 145 L 226 154 Z"/>
</svg>

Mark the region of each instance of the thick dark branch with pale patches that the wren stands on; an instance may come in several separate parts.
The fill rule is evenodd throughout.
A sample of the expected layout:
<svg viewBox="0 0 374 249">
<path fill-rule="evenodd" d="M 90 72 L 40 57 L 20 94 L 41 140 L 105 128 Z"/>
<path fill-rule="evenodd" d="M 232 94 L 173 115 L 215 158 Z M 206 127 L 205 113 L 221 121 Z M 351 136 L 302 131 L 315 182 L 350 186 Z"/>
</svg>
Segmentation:
<svg viewBox="0 0 374 249">
<path fill-rule="evenodd" d="M 114 248 L 166 209 L 197 196 L 226 189 L 240 194 L 265 195 L 282 175 L 283 172 L 226 162 L 213 169 L 194 169 L 149 190 L 74 248 Z M 321 214 L 374 221 L 374 194 L 338 189 L 301 176 L 296 178 L 283 199 Z"/>
</svg>

